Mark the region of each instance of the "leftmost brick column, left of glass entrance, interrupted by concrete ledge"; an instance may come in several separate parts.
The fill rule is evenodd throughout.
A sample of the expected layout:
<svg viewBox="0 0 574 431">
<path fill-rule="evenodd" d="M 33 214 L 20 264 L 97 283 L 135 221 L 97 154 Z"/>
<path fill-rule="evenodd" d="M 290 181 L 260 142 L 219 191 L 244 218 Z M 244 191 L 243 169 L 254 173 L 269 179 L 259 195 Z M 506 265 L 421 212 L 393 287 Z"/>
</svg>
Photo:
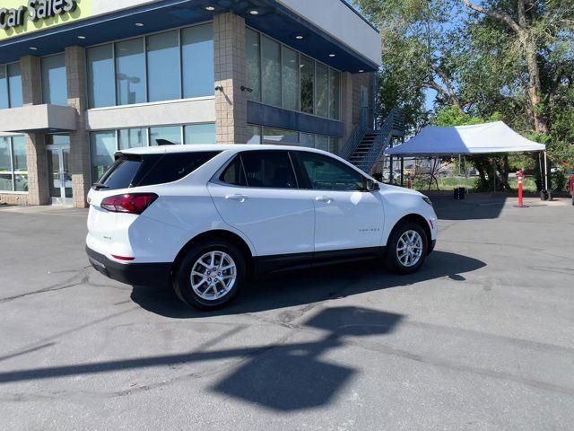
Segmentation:
<svg viewBox="0 0 574 431">
<path fill-rule="evenodd" d="M 22 57 L 20 68 L 24 106 L 40 104 L 42 102 L 42 75 L 39 57 Z M 26 135 L 26 163 L 28 163 L 28 205 L 49 205 L 51 199 L 44 135 Z"/>
</svg>

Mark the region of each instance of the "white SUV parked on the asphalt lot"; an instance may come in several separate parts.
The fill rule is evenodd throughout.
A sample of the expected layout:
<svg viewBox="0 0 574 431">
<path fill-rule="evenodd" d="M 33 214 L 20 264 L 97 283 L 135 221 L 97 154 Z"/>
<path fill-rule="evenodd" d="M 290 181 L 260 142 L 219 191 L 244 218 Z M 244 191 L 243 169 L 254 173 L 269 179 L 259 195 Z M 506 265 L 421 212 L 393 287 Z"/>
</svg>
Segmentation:
<svg viewBox="0 0 574 431">
<path fill-rule="evenodd" d="M 220 307 L 252 275 L 379 258 L 412 273 L 434 248 L 421 193 L 333 154 L 279 145 L 166 145 L 116 154 L 88 195 L 86 251 L 107 277 L 170 282 Z"/>
</svg>

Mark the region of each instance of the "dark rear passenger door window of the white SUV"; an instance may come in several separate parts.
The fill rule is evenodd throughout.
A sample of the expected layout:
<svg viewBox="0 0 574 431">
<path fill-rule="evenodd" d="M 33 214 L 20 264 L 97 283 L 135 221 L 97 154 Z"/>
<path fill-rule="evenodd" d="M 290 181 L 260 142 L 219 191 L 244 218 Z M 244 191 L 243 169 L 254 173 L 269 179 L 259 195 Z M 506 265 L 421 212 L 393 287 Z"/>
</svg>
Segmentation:
<svg viewBox="0 0 574 431">
<path fill-rule="evenodd" d="M 248 151 L 241 154 L 248 187 L 297 189 L 295 172 L 286 151 Z"/>
</svg>

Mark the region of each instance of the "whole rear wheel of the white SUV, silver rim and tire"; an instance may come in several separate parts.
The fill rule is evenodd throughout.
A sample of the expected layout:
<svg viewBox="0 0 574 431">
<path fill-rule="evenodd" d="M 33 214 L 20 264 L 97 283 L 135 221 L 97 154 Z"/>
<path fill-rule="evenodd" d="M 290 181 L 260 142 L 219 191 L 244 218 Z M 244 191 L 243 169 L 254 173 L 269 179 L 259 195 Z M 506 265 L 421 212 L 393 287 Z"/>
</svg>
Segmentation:
<svg viewBox="0 0 574 431">
<path fill-rule="evenodd" d="M 241 251 L 224 240 L 200 242 L 187 252 L 176 271 L 178 297 L 201 310 L 221 308 L 237 295 L 245 280 Z"/>
</svg>

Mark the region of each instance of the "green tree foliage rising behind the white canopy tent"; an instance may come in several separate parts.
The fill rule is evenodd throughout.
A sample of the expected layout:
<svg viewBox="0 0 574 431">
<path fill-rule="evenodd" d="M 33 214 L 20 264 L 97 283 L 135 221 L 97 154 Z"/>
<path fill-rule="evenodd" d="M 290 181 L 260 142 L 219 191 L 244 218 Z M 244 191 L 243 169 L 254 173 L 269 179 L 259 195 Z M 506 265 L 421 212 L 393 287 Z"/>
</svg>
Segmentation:
<svg viewBox="0 0 574 431">
<path fill-rule="evenodd" d="M 548 124 L 553 159 L 574 164 L 574 0 L 526 1 L 524 37 L 535 47 L 541 102 L 533 108 L 524 40 L 507 22 L 465 7 L 463 0 L 354 0 L 383 41 L 379 111 L 406 110 L 410 132 L 428 124 L 501 119 L 524 136 L 534 113 Z M 474 0 L 518 20 L 519 0 Z M 434 109 L 427 92 L 437 92 Z M 526 159 L 520 164 L 528 166 Z M 518 163 L 518 162 L 517 162 Z"/>
</svg>

